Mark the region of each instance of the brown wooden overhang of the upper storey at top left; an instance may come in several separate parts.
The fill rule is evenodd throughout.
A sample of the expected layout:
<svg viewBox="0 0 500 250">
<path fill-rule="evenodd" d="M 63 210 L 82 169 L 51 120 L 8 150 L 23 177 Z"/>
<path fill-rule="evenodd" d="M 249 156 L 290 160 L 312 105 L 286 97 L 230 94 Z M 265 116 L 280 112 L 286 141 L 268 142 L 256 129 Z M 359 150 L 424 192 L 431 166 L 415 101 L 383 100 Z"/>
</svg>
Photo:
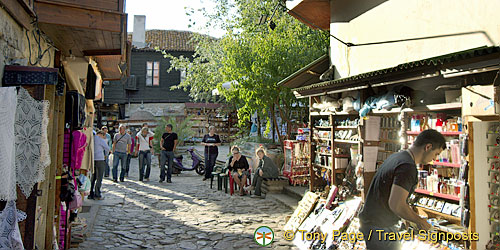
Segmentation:
<svg viewBox="0 0 500 250">
<path fill-rule="evenodd" d="M 124 0 L 35 0 L 34 8 L 40 29 L 63 55 L 93 56 L 107 65 L 103 80 L 120 78 L 118 65 L 127 61 Z"/>
</svg>

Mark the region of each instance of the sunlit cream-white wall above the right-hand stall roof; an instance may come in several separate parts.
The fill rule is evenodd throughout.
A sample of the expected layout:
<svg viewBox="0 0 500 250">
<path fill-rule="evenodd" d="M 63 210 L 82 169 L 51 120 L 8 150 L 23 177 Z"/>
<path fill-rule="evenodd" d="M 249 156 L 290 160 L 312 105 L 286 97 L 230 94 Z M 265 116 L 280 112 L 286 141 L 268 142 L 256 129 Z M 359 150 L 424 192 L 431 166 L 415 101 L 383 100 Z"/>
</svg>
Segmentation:
<svg viewBox="0 0 500 250">
<path fill-rule="evenodd" d="M 389 0 L 348 23 L 331 23 L 330 33 L 351 43 L 472 31 L 484 31 L 490 37 L 473 34 L 350 48 L 331 38 L 331 60 L 338 71 L 336 78 L 480 46 L 499 45 L 498 13 L 500 0 Z"/>
</svg>

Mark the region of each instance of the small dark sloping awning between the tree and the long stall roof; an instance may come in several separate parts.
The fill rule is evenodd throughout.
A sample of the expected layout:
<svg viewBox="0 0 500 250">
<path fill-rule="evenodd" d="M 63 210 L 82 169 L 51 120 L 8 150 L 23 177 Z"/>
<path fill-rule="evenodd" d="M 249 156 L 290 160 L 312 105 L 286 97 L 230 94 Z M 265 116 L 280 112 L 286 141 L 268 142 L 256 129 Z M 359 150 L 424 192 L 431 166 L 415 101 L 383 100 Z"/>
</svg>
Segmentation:
<svg viewBox="0 0 500 250">
<path fill-rule="evenodd" d="M 281 80 L 278 83 L 278 86 L 294 89 L 317 83 L 319 81 L 319 76 L 329 67 L 329 57 L 328 55 L 323 55 L 305 67 L 297 70 L 295 73 L 289 75 L 287 78 Z"/>
</svg>

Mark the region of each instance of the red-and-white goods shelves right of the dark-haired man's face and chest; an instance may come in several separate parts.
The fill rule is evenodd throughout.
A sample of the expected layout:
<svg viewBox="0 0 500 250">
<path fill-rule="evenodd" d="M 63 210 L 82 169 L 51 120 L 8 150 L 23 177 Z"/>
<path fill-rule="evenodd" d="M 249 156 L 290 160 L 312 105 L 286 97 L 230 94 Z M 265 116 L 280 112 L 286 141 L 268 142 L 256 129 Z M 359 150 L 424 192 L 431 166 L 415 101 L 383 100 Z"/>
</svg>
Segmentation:
<svg viewBox="0 0 500 250">
<path fill-rule="evenodd" d="M 436 106 L 438 107 L 438 106 Z M 430 164 L 419 166 L 419 182 L 415 189 L 415 199 L 423 199 L 427 204 L 415 205 L 421 215 L 429 219 L 446 220 L 446 226 L 435 226 L 438 231 L 458 230 L 460 232 L 471 232 L 469 228 L 470 207 L 469 197 L 463 194 L 468 186 L 467 168 L 462 169 L 467 162 L 461 153 L 463 141 L 467 135 L 462 127 L 461 105 L 440 105 L 439 109 L 403 112 L 401 119 L 404 120 L 402 138 L 403 148 L 408 148 L 416 137 L 426 129 L 436 129 L 445 137 L 447 147 L 438 159 Z M 465 216 L 465 218 L 464 218 Z M 437 223 L 437 222 L 436 222 Z M 470 248 L 470 240 L 463 241 Z"/>
</svg>

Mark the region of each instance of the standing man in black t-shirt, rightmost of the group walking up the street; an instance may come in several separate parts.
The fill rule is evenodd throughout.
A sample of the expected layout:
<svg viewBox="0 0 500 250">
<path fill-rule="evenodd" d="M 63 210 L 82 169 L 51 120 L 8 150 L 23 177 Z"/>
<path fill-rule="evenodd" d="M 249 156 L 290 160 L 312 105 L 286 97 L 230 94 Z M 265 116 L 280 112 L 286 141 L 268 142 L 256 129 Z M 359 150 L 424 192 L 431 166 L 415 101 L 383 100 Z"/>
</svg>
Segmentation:
<svg viewBox="0 0 500 250">
<path fill-rule="evenodd" d="M 167 182 L 172 182 L 172 167 L 174 165 L 174 151 L 177 147 L 177 142 L 177 134 L 172 132 L 172 124 L 167 124 L 165 126 L 165 133 L 163 133 L 160 140 L 160 183 L 165 181 L 165 163 L 167 161 Z"/>
</svg>

